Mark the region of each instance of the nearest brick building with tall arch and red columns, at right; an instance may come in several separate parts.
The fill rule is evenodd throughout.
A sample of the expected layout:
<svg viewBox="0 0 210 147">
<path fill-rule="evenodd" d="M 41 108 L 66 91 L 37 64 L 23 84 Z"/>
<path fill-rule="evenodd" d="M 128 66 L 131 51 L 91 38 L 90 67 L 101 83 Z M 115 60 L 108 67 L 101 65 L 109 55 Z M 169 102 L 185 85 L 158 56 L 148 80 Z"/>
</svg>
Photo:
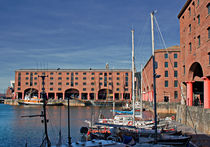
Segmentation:
<svg viewBox="0 0 210 147">
<path fill-rule="evenodd" d="M 184 100 L 210 108 L 210 0 L 187 0 L 178 18 Z"/>
</svg>

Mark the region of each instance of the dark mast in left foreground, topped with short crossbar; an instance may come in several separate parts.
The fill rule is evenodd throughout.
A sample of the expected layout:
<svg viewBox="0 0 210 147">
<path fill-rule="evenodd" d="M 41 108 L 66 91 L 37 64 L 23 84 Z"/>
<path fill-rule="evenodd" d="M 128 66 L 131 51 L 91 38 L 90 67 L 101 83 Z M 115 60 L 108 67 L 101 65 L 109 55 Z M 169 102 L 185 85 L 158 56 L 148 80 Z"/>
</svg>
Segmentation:
<svg viewBox="0 0 210 147">
<path fill-rule="evenodd" d="M 44 88 L 44 85 L 45 85 L 44 80 L 45 80 L 45 77 L 47 77 L 47 76 L 41 75 L 39 77 L 42 78 L 42 92 L 41 92 L 41 97 L 43 99 L 43 116 L 44 116 L 44 128 L 45 128 L 45 138 L 44 138 L 42 144 L 46 140 L 47 146 L 50 147 L 51 146 L 51 142 L 50 142 L 50 139 L 48 137 L 48 132 L 47 132 L 47 122 L 48 122 L 48 120 L 47 120 L 47 116 L 46 116 L 46 104 L 47 104 L 47 100 L 46 99 L 47 99 L 47 97 L 46 97 L 45 88 Z"/>
</svg>

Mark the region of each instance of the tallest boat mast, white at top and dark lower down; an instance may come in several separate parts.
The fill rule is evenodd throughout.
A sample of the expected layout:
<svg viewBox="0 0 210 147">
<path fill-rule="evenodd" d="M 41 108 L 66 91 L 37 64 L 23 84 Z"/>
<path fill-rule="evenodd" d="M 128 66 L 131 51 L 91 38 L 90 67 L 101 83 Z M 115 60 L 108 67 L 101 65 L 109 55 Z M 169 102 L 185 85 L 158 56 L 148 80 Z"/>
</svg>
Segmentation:
<svg viewBox="0 0 210 147">
<path fill-rule="evenodd" d="M 153 90 L 154 90 L 154 121 L 155 121 L 155 143 L 157 143 L 157 107 L 156 107 L 156 73 L 155 73 L 155 45 L 154 45 L 154 12 L 151 16 L 151 30 L 152 30 L 152 59 L 153 59 Z"/>
</svg>

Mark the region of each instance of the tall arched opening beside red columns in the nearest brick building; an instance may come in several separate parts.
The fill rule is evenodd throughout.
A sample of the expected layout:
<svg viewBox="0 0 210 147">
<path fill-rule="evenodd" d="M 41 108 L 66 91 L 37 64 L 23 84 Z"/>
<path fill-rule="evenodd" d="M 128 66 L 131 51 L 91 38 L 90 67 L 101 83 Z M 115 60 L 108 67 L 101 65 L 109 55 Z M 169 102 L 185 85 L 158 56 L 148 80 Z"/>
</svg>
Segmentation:
<svg viewBox="0 0 210 147">
<path fill-rule="evenodd" d="M 203 82 L 203 70 L 198 62 L 194 62 L 189 69 L 188 79 L 191 82 L 187 83 L 187 100 L 191 97 L 191 105 L 203 106 L 204 103 L 204 82 Z M 189 85 L 191 85 L 192 93 L 189 92 Z"/>
</svg>

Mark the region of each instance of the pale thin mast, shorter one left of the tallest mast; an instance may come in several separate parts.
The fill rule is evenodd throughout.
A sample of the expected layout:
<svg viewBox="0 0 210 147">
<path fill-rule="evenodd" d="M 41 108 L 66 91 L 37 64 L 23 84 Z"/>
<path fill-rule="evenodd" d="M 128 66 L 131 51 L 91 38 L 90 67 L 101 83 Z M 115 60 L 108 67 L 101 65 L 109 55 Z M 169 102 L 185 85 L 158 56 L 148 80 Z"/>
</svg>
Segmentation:
<svg viewBox="0 0 210 147">
<path fill-rule="evenodd" d="M 131 30 L 132 33 L 132 100 L 133 100 L 133 126 L 135 126 L 135 92 L 134 92 L 134 29 Z"/>
</svg>

